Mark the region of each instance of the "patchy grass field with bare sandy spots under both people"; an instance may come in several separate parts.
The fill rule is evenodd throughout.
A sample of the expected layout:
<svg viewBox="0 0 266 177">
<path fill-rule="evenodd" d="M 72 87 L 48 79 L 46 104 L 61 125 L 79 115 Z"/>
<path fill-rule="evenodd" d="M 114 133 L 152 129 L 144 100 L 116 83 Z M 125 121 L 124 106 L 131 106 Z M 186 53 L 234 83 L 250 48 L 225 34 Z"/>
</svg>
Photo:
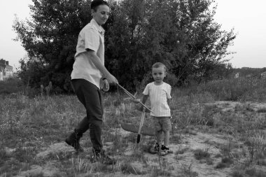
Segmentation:
<svg viewBox="0 0 266 177">
<path fill-rule="evenodd" d="M 0 84 L 0 90 L 1 86 Z M 172 91 L 173 154 L 147 153 L 152 136 L 125 132 L 120 123 L 139 124 L 141 113 L 120 90 L 104 93 L 103 143 L 118 163 L 91 163 L 64 143 L 85 115 L 74 95 L 28 97 L 2 92 L 0 176 L 266 176 L 266 80 L 218 80 Z M 8 92 L 8 94 L 6 94 Z M 140 95 L 138 95 L 140 97 Z M 146 116 L 144 124 L 151 118 Z"/>
</svg>

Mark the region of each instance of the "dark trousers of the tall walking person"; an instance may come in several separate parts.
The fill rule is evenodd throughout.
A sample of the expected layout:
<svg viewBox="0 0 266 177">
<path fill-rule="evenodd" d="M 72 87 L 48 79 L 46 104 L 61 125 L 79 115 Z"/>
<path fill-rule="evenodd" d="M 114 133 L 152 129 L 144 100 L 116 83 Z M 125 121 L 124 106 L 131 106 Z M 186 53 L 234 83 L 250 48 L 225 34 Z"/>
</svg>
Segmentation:
<svg viewBox="0 0 266 177">
<path fill-rule="evenodd" d="M 90 129 L 90 140 L 93 150 L 102 150 L 102 93 L 97 86 L 84 79 L 73 79 L 71 84 L 78 100 L 85 106 L 87 116 L 80 121 L 74 132 L 66 139 L 66 143 L 78 151 L 83 151 L 79 140 L 83 133 Z"/>
</svg>

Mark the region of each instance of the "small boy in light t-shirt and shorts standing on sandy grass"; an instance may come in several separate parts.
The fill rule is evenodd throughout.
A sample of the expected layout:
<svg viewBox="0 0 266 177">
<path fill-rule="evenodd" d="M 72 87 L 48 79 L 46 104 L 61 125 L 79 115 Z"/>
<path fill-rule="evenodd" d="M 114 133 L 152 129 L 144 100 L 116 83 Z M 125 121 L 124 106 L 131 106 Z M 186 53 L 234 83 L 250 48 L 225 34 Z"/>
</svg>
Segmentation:
<svg viewBox="0 0 266 177">
<path fill-rule="evenodd" d="M 157 143 L 151 148 L 151 153 L 161 153 L 161 155 L 167 155 L 171 152 L 168 147 L 170 130 L 172 129 L 168 102 L 172 98 L 170 95 L 172 87 L 163 81 L 166 74 L 165 64 L 160 62 L 153 64 L 152 75 L 154 82 L 146 85 L 143 92 L 144 97 L 142 98 L 142 103 L 145 104 L 148 97 L 150 97 L 151 116 L 155 125 Z M 164 133 L 164 144 L 161 146 L 162 132 Z"/>
</svg>

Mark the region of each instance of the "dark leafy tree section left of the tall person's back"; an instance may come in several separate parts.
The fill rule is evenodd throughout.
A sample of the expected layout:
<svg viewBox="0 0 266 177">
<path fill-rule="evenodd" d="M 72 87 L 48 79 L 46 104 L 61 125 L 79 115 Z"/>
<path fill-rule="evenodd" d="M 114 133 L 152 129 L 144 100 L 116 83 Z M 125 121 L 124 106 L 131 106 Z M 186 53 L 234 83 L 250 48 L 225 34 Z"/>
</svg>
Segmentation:
<svg viewBox="0 0 266 177">
<path fill-rule="evenodd" d="M 27 50 L 29 61 L 22 61 L 20 76 L 28 72 L 29 83 L 39 87 L 49 81 L 69 91 L 69 73 L 76 52 L 78 33 L 90 22 L 90 1 L 33 0 L 31 19 L 16 18 L 13 29 Z M 40 66 L 34 71 L 34 65 Z M 37 78 L 38 76 L 38 78 Z"/>
</svg>

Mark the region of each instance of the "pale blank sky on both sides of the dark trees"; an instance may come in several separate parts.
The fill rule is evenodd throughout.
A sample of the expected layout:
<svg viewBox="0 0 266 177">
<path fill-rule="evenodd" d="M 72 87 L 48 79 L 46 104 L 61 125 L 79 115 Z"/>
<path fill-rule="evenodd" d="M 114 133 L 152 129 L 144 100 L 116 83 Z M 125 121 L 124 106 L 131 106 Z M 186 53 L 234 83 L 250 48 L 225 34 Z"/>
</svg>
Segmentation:
<svg viewBox="0 0 266 177">
<path fill-rule="evenodd" d="M 12 24 L 15 14 L 20 20 L 29 18 L 31 0 L 0 0 L 0 59 L 9 61 L 15 68 L 27 52 L 21 43 L 13 41 L 17 36 Z M 234 28 L 237 38 L 228 48 L 233 55 L 226 57 L 234 68 L 266 67 L 266 10 L 265 0 L 216 0 L 214 20 L 221 24 L 221 29 L 230 31 Z"/>
</svg>

